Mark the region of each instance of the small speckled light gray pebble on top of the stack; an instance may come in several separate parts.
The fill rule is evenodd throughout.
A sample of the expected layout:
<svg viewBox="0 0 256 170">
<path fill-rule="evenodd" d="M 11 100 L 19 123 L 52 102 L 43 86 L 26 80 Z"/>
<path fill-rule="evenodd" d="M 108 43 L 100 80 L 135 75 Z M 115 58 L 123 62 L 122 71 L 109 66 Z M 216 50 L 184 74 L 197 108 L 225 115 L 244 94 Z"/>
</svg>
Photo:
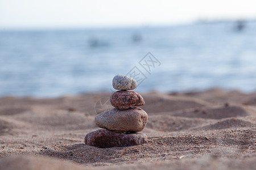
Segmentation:
<svg viewBox="0 0 256 170">
<path fill-rule="evenodd" d="M 112 84 L 115 90 L 134 90 L 137 87 L 135 79 L 122 74 L 115 75 Z"/>
</svg>

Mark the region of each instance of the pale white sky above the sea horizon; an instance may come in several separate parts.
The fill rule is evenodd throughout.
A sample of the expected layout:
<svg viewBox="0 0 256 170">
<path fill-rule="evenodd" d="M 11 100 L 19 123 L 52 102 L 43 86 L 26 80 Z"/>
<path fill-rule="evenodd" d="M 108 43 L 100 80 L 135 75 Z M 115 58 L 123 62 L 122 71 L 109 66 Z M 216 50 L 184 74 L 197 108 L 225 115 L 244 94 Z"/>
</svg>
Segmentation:
<svg viewBox="0 0 256 170">
<path fill-rule="evenodd" d="M 0 0 L 0 29 L 170 25 L 255 19 L 255 0 Z"/>
</svg>

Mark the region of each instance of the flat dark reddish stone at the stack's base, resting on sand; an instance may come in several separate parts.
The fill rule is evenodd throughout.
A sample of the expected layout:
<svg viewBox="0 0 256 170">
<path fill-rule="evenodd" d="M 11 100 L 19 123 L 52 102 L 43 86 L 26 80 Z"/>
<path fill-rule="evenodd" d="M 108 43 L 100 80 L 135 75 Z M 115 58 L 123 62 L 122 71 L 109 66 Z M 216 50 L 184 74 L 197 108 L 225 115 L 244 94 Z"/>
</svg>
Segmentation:
<svg viewBox="0 0 256 170">
<path fill-rule="evenodd" d="M 141 133 L 117 133 L 105 129 L 92 131 L 85 135 L 86 145 L 100 148 L 142 145 L 147 135 Z"/>
</svg>

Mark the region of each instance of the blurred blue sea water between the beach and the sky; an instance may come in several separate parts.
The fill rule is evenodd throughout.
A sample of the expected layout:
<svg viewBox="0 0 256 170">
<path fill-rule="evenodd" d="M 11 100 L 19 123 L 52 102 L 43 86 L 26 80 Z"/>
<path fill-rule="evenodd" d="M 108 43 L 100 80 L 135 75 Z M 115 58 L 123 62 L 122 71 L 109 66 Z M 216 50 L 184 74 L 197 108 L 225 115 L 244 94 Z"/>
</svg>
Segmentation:
<svg viewBox="0 0 256 170">
<path fill-rule="evenodd" d="M 0 31 L 0 96 L 111 92 L 116 74 L 138 92 L 255 91 L 256 22 Z"/>
</svg>

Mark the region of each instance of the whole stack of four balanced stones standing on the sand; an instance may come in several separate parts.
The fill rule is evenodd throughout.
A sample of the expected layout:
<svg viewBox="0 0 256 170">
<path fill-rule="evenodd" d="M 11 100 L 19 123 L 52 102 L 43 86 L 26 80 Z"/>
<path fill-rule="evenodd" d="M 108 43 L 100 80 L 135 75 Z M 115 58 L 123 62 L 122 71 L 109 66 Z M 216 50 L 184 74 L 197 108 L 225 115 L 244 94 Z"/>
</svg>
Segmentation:
<svg viewBox="0 0 256 170">
<path fill-rule="evenodd" d="M 147 124 L 147 113 L 138 106 L 144 105 L 143 97 L 134 91 L 135 79 L 118 74 L 114 76 L 115 90 L 110 96 L 113 109 L 97 114 L 96 125 L 100 130 L 92 131 L 85 136 L 85 144 L 101 148 L 141 145 L 147 135 L 137 133 Z"/>
</svg>

